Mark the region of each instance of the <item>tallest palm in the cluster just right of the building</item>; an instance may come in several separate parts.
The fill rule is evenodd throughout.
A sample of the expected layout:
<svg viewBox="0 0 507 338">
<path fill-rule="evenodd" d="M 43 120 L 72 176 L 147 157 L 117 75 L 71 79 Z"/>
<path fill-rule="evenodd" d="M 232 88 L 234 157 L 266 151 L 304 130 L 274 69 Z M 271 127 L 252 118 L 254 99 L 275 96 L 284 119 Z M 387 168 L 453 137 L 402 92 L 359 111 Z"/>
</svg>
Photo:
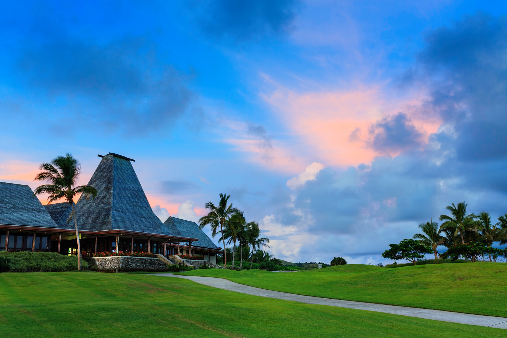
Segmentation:
<svg viewBox="0 0 507 338">
<path fill-rule="evenodd" d="M 225 254 L 225 238 L 224 238 L 224 227 L 227 220 L 236 212 L 238 208 L 233 208 L 232 203 L 227 204 L 231 195 L 220 194 L 220 202 L 218 206 L 215 206 L 213 202 L 208 201 L 205 205 L 209 212 L 206 216 L 199 219 L 199 228 L 203 229 L 207 224 L 211 226 L 211 235 L 213 238 L 219 232 L 222 235 L 222 242 L 224 243 L 224 268 L 227 264 L 227 256 Z M 218 231 L 220 227 L 220 231 Z"/>
</svg>

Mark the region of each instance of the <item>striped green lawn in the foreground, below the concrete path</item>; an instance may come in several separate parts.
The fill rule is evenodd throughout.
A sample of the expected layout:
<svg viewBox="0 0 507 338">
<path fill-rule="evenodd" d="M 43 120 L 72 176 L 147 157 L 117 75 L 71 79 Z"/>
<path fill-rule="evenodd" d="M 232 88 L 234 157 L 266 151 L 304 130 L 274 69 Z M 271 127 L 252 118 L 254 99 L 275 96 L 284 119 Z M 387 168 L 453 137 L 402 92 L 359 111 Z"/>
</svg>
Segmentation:
<svg viewBox="0 0 507 338">
<path fill-rule="evenodd" d="M 308 305 L 178 278 L 0 274 L 3 336 L 505 336 L 505 330 Z"/>
</svg>

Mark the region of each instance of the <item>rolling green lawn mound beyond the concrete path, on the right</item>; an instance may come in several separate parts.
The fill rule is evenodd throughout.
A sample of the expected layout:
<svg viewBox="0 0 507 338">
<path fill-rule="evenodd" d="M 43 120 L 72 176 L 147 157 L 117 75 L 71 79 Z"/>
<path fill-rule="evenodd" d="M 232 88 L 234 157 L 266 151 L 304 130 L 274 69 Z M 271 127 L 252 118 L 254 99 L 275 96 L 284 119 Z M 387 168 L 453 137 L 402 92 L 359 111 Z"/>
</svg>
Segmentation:
<svg viewBox="0 0 507 338">
<path fill-rule="evenodd" d="M 432 264 L 403 268 L 345 265 L 296 273 L 196 270 L 264 289 L 480 315 L 507 317 L 507 264 Z"/>
</svg>

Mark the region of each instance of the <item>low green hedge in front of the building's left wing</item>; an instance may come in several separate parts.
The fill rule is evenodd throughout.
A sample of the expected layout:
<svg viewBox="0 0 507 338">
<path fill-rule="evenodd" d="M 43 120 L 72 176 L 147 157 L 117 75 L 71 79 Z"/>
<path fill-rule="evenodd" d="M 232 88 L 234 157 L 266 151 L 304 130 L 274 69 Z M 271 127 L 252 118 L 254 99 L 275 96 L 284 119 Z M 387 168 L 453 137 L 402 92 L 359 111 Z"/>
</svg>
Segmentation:
<svg viewBox="0 0 507 338">
<path fill-rule="evenodd" d="M 56 252 L 6 252 L 0 251 L 0 261 L 9 272 L 49 272 L 78 270 L 77 256 L 64 256 Z M 82 259 L 81 268 L 88 269 Z"/>
</svg>

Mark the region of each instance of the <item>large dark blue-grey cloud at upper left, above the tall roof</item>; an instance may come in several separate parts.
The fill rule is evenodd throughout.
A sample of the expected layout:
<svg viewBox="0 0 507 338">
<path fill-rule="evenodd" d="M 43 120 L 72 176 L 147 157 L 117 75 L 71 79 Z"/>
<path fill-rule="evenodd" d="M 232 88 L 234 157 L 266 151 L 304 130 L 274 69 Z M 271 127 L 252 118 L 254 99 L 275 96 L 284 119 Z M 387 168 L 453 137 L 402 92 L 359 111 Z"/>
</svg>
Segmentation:
<svg viewBox="0 0 507 338">
<path fill-rule="evenodd" d="M 194 98 L 190 77 L 161 62 L 149 39 L 99 43 L 47 34 L 35 33 L 12 51 L 19 82 L 12 87 L 28 88 L 39 109 L 51 109 L 55 131 L 86 125 L 92 132 L 152 133 L 181 117 Z"/>
</svg>

